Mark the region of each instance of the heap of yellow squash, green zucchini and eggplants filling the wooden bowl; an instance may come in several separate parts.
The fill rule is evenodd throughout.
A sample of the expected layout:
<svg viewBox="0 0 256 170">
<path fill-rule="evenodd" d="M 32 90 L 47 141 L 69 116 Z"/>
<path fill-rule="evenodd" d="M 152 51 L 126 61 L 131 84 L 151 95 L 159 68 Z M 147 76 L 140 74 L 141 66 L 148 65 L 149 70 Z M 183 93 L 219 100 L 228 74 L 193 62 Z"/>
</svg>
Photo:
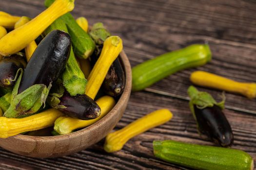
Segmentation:
<svg viewBox="0 0 256 170">
<path fill-rule="evenodd" d="M 53 125 L 53 135 L 87 127 L 124 89 L 125 72 L 119 60 L 114 65 L 122 39 L 107 34 L 98 43 L 95 37 L 109 32 L 76 20 L 69 13 L 74 0 L 45 0 L 45 6 L 32 19 L 0 12 L 1 138 Z"/>
</svg>

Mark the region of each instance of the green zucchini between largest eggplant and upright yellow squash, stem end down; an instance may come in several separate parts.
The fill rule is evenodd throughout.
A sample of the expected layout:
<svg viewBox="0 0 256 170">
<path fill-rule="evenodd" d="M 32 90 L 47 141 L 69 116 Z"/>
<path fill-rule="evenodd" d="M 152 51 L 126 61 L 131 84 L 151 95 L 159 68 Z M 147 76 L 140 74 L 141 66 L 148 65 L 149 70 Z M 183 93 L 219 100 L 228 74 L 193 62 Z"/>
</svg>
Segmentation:
<svg viewBox="0 0 256 170">
<path fill-rule="evenodd" d="M 68 29 L 64 21 L 60 18 L 55 20 L 44 32 L 48 34 L 53 30 L 61 30 L 68 33 Z M 75 54 L 71 48 L 70 56 L 67 61 L 65 70 L 62 73 L 62 81 L 66 90 L 71 96 L 85 93 L 87 80 L 84 77 L 82 70 L 75 58 Z"/>
</svg>

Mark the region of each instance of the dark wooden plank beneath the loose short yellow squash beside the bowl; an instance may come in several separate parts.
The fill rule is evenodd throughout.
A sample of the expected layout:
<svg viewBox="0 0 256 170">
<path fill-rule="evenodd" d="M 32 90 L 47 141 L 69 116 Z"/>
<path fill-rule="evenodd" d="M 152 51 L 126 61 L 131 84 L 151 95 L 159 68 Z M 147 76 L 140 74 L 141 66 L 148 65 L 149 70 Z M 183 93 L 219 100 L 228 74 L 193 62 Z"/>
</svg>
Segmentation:
<svg viewBox="0 0 256 170">
<path fill-rule="evenodd" d="M 143 102 L 141 102 L 143 101 Z M 148 104 L 150 103 L 150 105 Z M 0 154 L 9 159 L 16 160 L 22 164 L 37 165 L 50 169 L 162 169 L 175 170 L 176 167 L 154 157 L 153 140 L 172 139 L 189 143 L 214 145 L 214 143 L 204 140 L 197 134 L 196 122 L 188 108 L 188 102 L 172 97 L 165 97 L 149 92 L 137 92 L 132 94 L 129 106 L 118 123 L 115 130 L 118 130 L 128 123 L 152 112 L 156 109 L 168 108 L 174 118 L 164 125 L 156 127 L 148 132 L 134 137 L 124 148 L 116 153 L 105 153 L 102 140 L 88 150 L 55 159 L 35 159 L 18 156 L 0 150 Z M 256 128 L 255 116 L 251 114 L 241 114 L 229 109 L 224 110 L 229 120 L 235 137 L 232 148 L 241 149 L 249 153 L 256 159 Z"/>
</svg>

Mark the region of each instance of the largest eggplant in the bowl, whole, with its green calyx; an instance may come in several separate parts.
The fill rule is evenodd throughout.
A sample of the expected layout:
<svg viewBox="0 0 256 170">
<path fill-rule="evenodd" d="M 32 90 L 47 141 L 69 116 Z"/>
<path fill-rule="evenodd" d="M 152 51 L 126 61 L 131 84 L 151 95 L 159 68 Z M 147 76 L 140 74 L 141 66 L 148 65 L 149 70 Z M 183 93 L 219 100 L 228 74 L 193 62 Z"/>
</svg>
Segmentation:
<svg viewBox="0 0 256 170">
<path fill-rule="evenodd" d="M 29 116 L 39 110 L 46 101 L 52 83 L 64 70 L 70 49 L 70 35 L 59 30 L 52 31 L 40 42 L 24 75 L 21 72 L 17 80 L 5 117 Z"/>
</svg>

